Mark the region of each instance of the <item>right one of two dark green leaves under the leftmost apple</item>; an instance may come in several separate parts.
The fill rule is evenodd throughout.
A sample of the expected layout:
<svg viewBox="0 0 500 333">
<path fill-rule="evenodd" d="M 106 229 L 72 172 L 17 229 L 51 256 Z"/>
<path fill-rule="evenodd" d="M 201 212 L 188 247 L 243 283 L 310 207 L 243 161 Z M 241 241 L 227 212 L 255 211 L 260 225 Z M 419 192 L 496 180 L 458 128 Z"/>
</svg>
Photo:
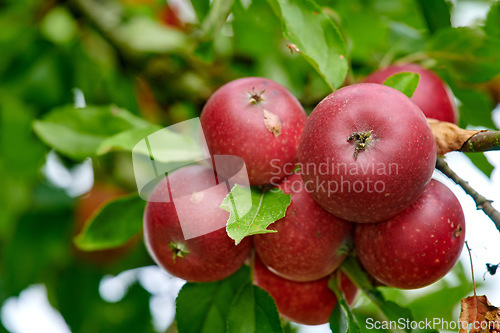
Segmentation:
<svg viewBox="0 0 500 333">
<path fill-rule="evenodd" d="M 273 298 L 251 283 L 238 291 L 227 316 L 227 333 L 243 332 L 283 332 Z"/>
</svg>

